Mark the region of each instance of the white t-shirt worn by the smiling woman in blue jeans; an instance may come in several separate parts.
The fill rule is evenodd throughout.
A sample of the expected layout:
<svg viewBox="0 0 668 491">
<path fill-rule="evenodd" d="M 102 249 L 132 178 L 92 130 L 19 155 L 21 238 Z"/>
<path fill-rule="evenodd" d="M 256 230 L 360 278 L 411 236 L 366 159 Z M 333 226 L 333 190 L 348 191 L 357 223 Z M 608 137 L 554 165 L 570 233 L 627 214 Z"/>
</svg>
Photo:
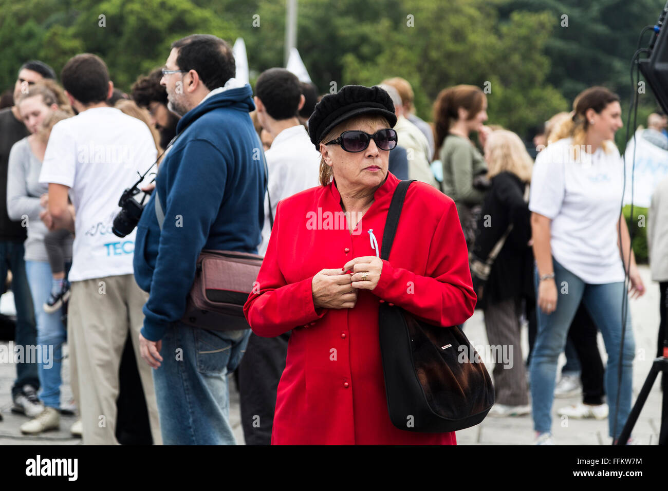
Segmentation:
<svg viewBox="0 0 668 491">
<path fill-rule="evenodd" d="M 624 281 L 617 222 L 624 166 L 619 150 L 580 150 L 572 138 L 538 154 L 531 179 L 529 209 L 552 220 L 552 256 L 585 283 Z"/>
</svg>

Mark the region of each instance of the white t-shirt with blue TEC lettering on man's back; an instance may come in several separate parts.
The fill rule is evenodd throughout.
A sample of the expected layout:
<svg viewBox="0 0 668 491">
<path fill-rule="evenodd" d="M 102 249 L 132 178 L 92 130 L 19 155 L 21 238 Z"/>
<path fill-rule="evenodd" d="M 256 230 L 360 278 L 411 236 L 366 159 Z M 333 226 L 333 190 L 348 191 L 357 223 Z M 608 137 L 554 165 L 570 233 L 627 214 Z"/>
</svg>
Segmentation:
<svg viewBox="0 0 668 491">
<path fill-rule="evenodd" d="M 131 275 L 135 232 L 112 233 L 118 200 L 156 160 L 144 122 L 92 108 L 53 126 L 39 182 L 63 184 L 76 212 L 69 281 Z"/>
</svg>

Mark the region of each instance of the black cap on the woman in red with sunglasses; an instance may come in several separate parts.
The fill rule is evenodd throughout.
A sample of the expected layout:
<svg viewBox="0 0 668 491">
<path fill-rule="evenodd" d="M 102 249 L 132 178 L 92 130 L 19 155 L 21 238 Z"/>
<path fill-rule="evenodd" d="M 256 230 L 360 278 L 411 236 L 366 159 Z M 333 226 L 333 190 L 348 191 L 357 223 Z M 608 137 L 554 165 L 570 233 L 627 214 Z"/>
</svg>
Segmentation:
<svg viewBox="0 0 668 491">
<path fill-rule="evenodd" d="M 389 94 L 379 87 L 345 86 L 336 94 L 327 94 L 315 106 L 309 118 L 309 136 L 316 150 L 332 128 L 360 114 L 378 114 L 389 122 L 390 128 L 397 124 L 394 104 Z"/>
</svg>

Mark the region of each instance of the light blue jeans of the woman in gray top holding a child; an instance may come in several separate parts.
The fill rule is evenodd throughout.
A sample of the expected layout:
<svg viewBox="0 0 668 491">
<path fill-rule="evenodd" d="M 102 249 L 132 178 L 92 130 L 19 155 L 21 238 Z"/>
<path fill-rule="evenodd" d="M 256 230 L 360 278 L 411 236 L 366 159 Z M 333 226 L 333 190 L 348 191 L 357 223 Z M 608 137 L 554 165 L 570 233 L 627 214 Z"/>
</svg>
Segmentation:
<svg viewBox="0 0 668 491">
<path fill-rule="evenodd" d="M 51 293 L 51 267 L 48 261 L 25 261 L 30 292 L 35 303 L 35 319 L 37 320 L 37 344 L 41 346 L 42 357 L 48 353 L 50 363 L 39 363 L 39 381 L 41 382 L 40 398 L 44 405 L 60 409 L 61 366 L 63 362 L 62 347 L 67 337 L 67 329 L 61 320 L 62 309 L 47 314 L 43 304 Z M 69 265 L 65 265 L 65 274 Z M 44 360 L 44 359 L 43 359 Z"/>
</svg>

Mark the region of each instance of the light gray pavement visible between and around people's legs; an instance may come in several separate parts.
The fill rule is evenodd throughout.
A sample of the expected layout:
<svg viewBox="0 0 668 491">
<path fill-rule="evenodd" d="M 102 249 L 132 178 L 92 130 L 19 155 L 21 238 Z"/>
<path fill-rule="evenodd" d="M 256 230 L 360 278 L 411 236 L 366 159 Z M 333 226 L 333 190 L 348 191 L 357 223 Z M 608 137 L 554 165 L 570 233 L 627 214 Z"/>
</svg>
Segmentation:
<svg viewBox="0 0 668 491">
<path fill-rule="evenodd" d="M 647 267 L 641 267 L 641 274 L 643 275 L 643 281 L 645 281 L 648 291 L 640 299 L 631 301 L 631 315 L 636 342 L 636 358 L 633 365 L 634 401 L 647 377 L 647 373 L 649 373 L 651 363 L 654 359 L 659 325 L 659 286 L 657 283 L 651 282 Z M 482 313 L 479 311 L 476 311 L 474 317 L 466 323 L 465 332 L 474 346 L 485 346 L 488 344 Z M 528 352 L 528 335 L 526 329 L 522 330 L 522 337 L 522 352 L 526 357 L 526 353 Z M 7 345 L 5 341 L 0 341 L 0 345 L 3 344 Z M 600 334 L 599 349 L 605 363 L 607 356 L 605 355 L 605 348 L 603 347 L 603 340 Z M 562 355 L 560 365 L 564 361 L 565 359 Z M 71 399 L 67 359 L 65 359 L 64 364 L 61 400 L 67 403 Z M 488 365 L 488 371 L 491 373 L 493 365 L 491 363 L 486 363 L 486 365 Z M 15 375 L 15 365 L 0 363 L 0 411 L 4 416 L 4 420 L 0 422 L 0 446 L 81 444 L 81 440 L 72 438 L 69 434 L 69 427 L 75 422 L 75 416 L 62 416 L 61 427 L 58 431 L 46 432 L 40 436 L 31 437 L 21 435 L 19 426 L 27 418 L 12 414 L 10 411 L 10 390 Z M 552 430 L 556 444 L 609 445 L 611 438 L 608 436 L 607 420 L 560 420 L 556 416 L 556 409 L 558 407 L 576 403 L 577 401 L 578 397 L 554 399 Z M 232 380 L 230 380 L 230 420 L 237 442 L 243 444 L 243 434 L 239 419 L 238 392 Z M 657 381 L 635 426 L 633 436 L 641 444 L 656 445 L 660 425 L 661 391 L 659 391 L 659 383 Z M 530 416 L 519 418 L 486 418 L 478 426 L 457 432 L 457 440 L 460 445 L 530 445 L 533 439 L 534 433 L 532 431 L 532 418 Z"/>
</svg>

